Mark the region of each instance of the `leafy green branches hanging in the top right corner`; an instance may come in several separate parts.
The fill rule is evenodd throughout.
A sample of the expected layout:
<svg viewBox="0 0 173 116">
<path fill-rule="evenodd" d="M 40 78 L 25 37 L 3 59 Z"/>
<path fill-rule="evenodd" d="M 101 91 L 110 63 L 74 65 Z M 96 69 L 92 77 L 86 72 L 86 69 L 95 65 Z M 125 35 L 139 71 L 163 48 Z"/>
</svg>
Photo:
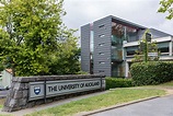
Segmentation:
<svg viewBox="0 0 173 116">
<path fill-rule="evenodd" d="M 161 7 L 159 8 L 158 12 L 168 12 L 169 15 L 166 19 L 173 19 L 173 0 L 161 0 L 160 4 Z"/>
</svg>

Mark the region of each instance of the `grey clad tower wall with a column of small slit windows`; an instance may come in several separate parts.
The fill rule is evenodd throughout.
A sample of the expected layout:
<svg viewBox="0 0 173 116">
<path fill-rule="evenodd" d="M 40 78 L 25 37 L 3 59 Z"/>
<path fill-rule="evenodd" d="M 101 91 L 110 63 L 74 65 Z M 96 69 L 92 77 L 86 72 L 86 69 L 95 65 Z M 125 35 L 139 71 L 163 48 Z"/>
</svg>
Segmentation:
<svg viewBox="0 0 173 116">
<path fill-rule="evenodd" d="M 97 20 L 93 23 L 94 31 L 94 73 L 104 73 L 111 77 L 111 37 L 112 37 L 112 16 Z M 103 44 L 101 46 L 101 44 Z M 103 53 L 104 55 L 101 55 Z M 104 63 L 101 63 L 103 61 Z M 104 72 L 102 72 L 104 71 Z"/>
</svg>

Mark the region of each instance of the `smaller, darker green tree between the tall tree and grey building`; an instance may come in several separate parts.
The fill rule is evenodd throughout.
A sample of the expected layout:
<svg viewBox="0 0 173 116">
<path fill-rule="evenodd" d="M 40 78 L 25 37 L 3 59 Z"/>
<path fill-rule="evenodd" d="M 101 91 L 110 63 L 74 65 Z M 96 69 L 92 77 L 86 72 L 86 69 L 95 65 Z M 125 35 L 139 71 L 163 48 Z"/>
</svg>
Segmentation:
<svg viewBox="0 0 173 116">
<path fill-rule="evenodd" d="M 59 53 L 51 56 L 51 65 L 49 65 L 50 74 L 71 74 L 80 71 L 79 54 L 77 43 L 73 40 L 71 33 L 66 42 L 59 44 Z"/>
</svg>

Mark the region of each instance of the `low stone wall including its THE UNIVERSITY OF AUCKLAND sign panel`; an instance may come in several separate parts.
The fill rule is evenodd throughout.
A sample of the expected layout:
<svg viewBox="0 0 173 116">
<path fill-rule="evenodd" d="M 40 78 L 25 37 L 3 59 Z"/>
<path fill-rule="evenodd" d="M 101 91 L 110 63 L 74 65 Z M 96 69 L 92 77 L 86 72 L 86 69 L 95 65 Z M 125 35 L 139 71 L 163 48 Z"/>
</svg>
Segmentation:
<svg viewBox="0 0 173 116">
<path fill-rule="evenodd" d="M 99 74 L 13 78 L 2 111 L 14 112 L 104 90 L 105 76 Z"/>
</svg>

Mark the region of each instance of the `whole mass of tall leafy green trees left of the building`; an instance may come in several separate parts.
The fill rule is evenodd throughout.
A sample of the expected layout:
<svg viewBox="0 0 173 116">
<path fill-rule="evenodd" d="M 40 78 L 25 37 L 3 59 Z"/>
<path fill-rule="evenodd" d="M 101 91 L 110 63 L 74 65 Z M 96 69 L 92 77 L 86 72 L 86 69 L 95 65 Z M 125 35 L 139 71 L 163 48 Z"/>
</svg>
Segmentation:
<svg viewBox="0 0 173 116">
<path fill-rule="evenodd" d="M 74 31 L 62 23 L 61 16 L 66 14 L 62 3 L 64 0 L 0 1 L 0 59 L 12 68 L 13 74 L 59 74 L 53 70 L 67 70 L 61 73 L 79 70 L 77 37 Z"/>
</svg>

